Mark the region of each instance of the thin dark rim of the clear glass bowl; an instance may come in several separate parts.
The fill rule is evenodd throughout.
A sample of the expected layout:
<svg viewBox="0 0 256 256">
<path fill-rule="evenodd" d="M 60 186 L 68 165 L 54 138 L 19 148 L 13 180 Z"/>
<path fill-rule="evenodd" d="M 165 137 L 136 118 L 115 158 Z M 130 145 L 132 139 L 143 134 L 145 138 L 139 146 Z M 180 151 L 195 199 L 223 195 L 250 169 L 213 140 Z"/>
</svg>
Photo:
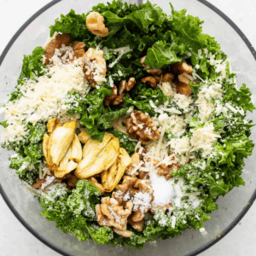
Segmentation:
<svg viewBox="0 0 256 256">
<path fill-rule="evenodd" d="M 216 14 L 218 14 L 220 17 L 222 17 L 241 37 L 241 39 L 247 45 L 248 49 L 250 50 L 250 52 L 252 53 L 252 55 L 256 61 L 256 51 L 253 48 L 250 41 L 244 35 L 244 33 L 241 32 L 241 29 L 238 26 L 236 26 L 236 24 L 232 20 L 230 20 L 230 18 L 227 15 L 224 15 L 224 13 L 221 10 L 219 10 L 218 8 L 216 8 L 212 3 L 209 3 L 206 0 L 196 0 L 196 1 L 206 5 L 209 9 L 212 9 L 212 11 L 214 11 Z M 31 24 L 32 21 L 35 20 L 39 15 L 43 14 L 45 10 L 49 9 L 51 6 L 55 5 L 55 3 L 59 3 L 59 2 L 61 2 L 61 0 L 53 0 L 52 2 L 46 4 L 42 9 L 39 9 L 38 12 L 36 12 L 34 15 L 32 15 L 32 17 L 30 19 L 26 20 L 26 22 L 15 33 L 13 38 L 10 39 L 9 44 L 7 44 L 5 49 L 3 49 L 3 53 L 0 56 L 0 66 L 3 63 L 5 55 L 8 53 L 8 51 L 12 47 L 12 45 L 15 43 L 15 40 L 20 36 L 21 32 L 23 32 L 26 29 L 26 26 Z M 121 2 L 125 2 L 125 1 L 121 0 Z M 138 2 L 141 2 L 141 1 L 138 0 Z M 26 230 L 31 232 L 33 236 L 37 237 L 38 240 L 42 241 L 46 246 L 55 250 L 55 252 L 61 253 L 62 255 L 65 255 L 65 256 L 70 256 L 70 254 L 68 254 L 67 252 L 62 251 L 59 247 L 56 247 L 55 244 L 51 243 L 50 241 L 47 241 L 43 236 L 38 234 L 38 232 L 36 230 L 33 230 L 32 227 L 26 223 L 26 221 L 20 216 L 20 213 L 16 211 L 15 207 L 9 201 L 9 198 L 5 194 L 1 183 L 0 183 L 0 194 L 3 196 L 3 200 L 6 202 L 9 209 L 11 210 L 11 212 L 13 212 L 15 214 L 15 217 L 18 218 L 18 220 L 20 221 L 21 224 L 23 224 L 23 226 L 26 228 Z M 214 245 L 215 243 L 220 241 L 224 236 L 226 236 L 230 232 L 230 230 L 232 230 L 236 226 L 236 224 L 238 224 L 241 221 L 241 218 L 243 218 L 245 216 L 245 214 L 247 213 L 249 208 L 253 205 L 253 201 L 255 201 L 255 199 L 256 199 L 256 189 L 254 190 L 253 195 L 251 196 L 250 200 L 247 202 L 247 206 L 242 209 L 242 211 L 233 220 L 233 222 L 222 232 L 221 236 L 217 236 L 212 241 L 207 242 L 202 247 L 196 249 L 194 252 L 191 252 L 185 256 L 195 256 L 199 253 L 202 253 L 203 251 L 207 250 L 209 247 L 212 247 L 212 245 Z"/>
</svg>

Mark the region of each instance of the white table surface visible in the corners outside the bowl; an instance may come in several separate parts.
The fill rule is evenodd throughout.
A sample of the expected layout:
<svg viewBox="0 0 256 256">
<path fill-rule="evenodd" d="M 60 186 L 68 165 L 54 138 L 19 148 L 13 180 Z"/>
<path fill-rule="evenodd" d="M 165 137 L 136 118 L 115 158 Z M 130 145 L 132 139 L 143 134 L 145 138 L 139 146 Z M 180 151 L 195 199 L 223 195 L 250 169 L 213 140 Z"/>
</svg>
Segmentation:
<svg viewBox="0 0 256 256">
<path fill-rule="evenodd" d="M 167 0 L 160 0 L 167 1 Z M 191 0 L 195 1 L 195 0 Z M 0 53 L 20 26 L 49 0 L 0 0 Z M 209 0 L 228 15 L 256 48 L 255 0 Z M 18 22 L 17 22 L 18 20 Z M 250 208 L 241 223 L 221 241 L 201 253 L 201 256 L 255 256 L 256 204 Z M 142 253 L 143 254 L 143 253 Z M 15 218 L 0 196 L 0 256 L 56 256 L 49 247 L 32 236 Z"/>
</svg>

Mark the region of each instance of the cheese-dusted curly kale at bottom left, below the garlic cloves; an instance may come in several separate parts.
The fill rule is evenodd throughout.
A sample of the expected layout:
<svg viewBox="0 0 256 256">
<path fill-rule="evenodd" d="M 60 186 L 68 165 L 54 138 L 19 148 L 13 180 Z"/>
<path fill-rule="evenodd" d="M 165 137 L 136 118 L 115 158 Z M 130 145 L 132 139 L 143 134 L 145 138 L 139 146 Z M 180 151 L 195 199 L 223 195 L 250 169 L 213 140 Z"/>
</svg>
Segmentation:
<svg viewBox="0 0 256 256">
<path fill-rule="evenodd" d="M 55 221 L 57 228 L 64 233 L 77 236 L 79 241 L 93 240 L 99 244 L 108 243 L 113 237 L 113 230 L 100 227 L 95 221 L 95 205 L 99 202 L 100 191 L 94 183 L 79 180 L 69 194 L 67 188 L 54 185 L 39 201 L 44 208 L 40 212 L 48 221 Z"/>
</svg>

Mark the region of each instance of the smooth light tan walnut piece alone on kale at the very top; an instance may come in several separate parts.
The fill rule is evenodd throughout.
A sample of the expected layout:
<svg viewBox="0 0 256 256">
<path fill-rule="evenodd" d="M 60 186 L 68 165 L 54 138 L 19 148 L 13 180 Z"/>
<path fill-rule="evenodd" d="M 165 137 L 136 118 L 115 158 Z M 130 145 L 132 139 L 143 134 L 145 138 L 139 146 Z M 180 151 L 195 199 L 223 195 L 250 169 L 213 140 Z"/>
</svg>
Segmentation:
<svg viewBox="0 0 256 256">
<path fill-rule="evenodd" d="M 104 38 L 108 36 L 108 27 L 104 24 L 104 18 L 97 12 L 91 12 L 86 17 L 86 26 L 90 32 L 98 37 Z"/>
</svg>

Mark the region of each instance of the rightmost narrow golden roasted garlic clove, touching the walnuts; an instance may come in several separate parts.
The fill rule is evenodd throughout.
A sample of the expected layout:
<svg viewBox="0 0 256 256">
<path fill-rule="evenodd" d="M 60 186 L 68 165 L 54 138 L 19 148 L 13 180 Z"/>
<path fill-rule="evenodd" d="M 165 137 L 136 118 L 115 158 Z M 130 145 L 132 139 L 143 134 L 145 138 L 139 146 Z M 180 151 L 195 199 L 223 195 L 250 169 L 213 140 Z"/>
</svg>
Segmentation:
<svg viewBox="0 0 256 256">
<path fill-rule="evenodd" d="M 111 192 L 125 174 L 125 170 L 131 165 L 131 157 L 125 148 L 119 149 L 119 156 L 108 171 L 101 173 L 102 185 L 106 192 Z"/>
</svg>

